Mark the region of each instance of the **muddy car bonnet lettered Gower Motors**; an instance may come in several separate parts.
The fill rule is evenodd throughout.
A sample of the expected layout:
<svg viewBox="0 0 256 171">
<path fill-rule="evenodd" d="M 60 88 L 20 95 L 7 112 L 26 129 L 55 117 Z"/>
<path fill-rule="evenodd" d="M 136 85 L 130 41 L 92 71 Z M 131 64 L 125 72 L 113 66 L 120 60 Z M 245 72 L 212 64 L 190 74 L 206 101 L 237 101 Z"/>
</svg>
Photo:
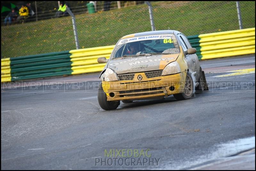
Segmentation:
<svg viewBox="0 0 256 171">
<path fill-rule="evenodd" d="M 180 53 L 112 59 L 108 68 L 116 71 L 116 74 L 163 70 L 167 64 L 176 61 L 179 55 Z"/>
</svg>

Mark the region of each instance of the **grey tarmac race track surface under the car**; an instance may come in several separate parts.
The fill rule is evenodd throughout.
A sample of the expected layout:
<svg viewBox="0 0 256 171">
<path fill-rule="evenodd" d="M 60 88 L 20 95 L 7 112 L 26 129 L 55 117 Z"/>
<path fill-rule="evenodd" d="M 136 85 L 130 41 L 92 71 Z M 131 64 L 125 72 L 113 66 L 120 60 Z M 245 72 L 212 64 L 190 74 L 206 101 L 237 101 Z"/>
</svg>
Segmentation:
<svg viewBox="0 0 256 171">
<path fill-rule="evenodd" d="M 209 91 L 112 111 L 98 104 L 99 73 L 2 84 L 1 169 L 182 169 L 254 148 L 255 56 L 200 64 Z M 248 137 L 253 145 L 221 146 Z M 150 149 L 158 165 L 95 164 L 127 148 Z"/>
</svg>

